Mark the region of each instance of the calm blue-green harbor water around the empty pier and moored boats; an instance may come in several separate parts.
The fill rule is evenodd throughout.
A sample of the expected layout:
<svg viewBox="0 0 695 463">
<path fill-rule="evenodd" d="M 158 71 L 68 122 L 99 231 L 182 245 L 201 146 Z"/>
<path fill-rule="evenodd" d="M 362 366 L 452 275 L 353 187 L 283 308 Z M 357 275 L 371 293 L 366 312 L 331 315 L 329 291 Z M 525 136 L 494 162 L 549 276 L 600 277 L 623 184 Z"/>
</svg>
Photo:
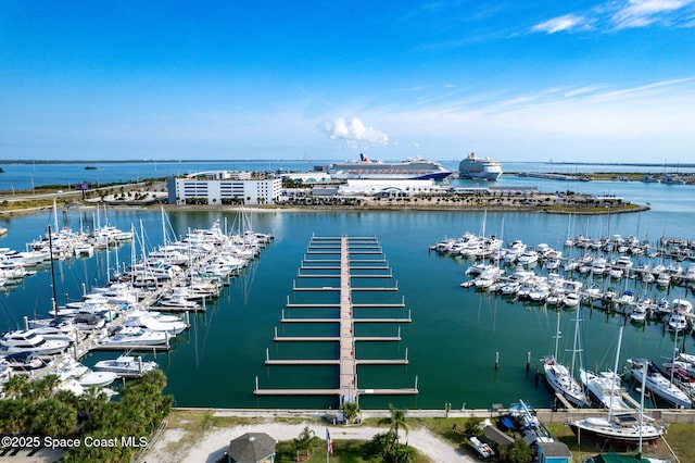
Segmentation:
<svg viewBox="0 0 695 463">
<path fill-rule="evenodd" d="M 569 168 L 569 167 L 568 167 Z M 102 170 L 100 168 L 100 172 Z M 573 171 L 573 167 L 572 167 Z M 454 182 L 454 180 L 452 180 Z M 464 182 L 464 180 L 456 180 Z M 530 178 L 507 178 L 507 185 L 529 185 Z M 543 190 L 563 190 L 565 183 L 542 180 Z M 563 251 L 568 258 L 583 254 L 583 248 L 574 247 L 569 252 L 564 248 L 564 240 L 570 236 L 611 237 L 621 234 L 623 237 L 635 236 L 640 241 L 649 242 L 653 249 L 640 259 L 654 260 L 657 264 L 659 255 L 649 258 L 659 246 L 661 237 L 687 240 L 692 238 L 694 224 L 688 215 L 686 201 L 673 200 L 674 195 L 687 197 L 691 188 L 687 185 L 661 185 L 641 183 L 577 183 L 587 192 L 603 195 L 615 193 L 631 201 L 650 202 L 650 211 L 640 214 L 621 214 L 610 216 L 576 216 L 527 213 L 488 212 L 488 234 L 493 232 L 498 238 L 504 237 L 508 246 L 519 239 L 530 247 L 546 242 L 548 248 Z M 574 186 L 572 186 L 574 188 Z M 70 226 L 79 229 L 80 221 L 89 223 L 94 210 L 59 211 L 59 227 Z M 241 214 L 233 210 L 219 211 L 169 211 L 172 229 L 178 237 L 189 230 L 207 228 L 215 221 L 220 224 L 239 222 Z M 349 233 L 356 236 L 378 235 L 380 249 L 388 255 L 390 274 L 397 291 L 355 291 L 353 306 L 365 308 L 366 313 L 356 314 L 354 327 L 357 337 L 393 337 L 397 329 L 384 322 L 358 322 L 357 318 L 402 318 L 410 322 L 399 322 L 401 341 L 358 342 L 357 359 L 393 359 L 404 360 L 407 364 L 393 366 L 400 368 L 396 374 L 383 372 L 379 365 L 364 363 L 359 368 L 359 384 L 366 389 L 412 389 L 415 374 L 418 377 L 418 393 L 404 396 L 362 395 L 362 408 L 383 408 L 383 403 L 392 402 L 409 410 L 438 409 L 440 402 L 447 400 L 457 409 L 486 408 L 490 403 L 511 403 L 519 395 L 539 408 L 552 408 L 557 398 L 551 395 L 543 381 L 536 381 L 534 371 L 540 366 L 538 359 L 552 352 L 553 336 L 556 330 L 556 311 L 571 311 L 569 306 L 554 308 L 530 301 L 515 300 L 495 295 L 494 291 L 462 290 L 459 284 L 470 277 L 465 271 L 475 262 L 469 258 L 455 258 L 429 251 L 428 247 L 442 240 L 444 236 L 459 237 L 466 230 L 477 232 L 481 227 L 482 211 L 247 211 L 247 217 L 253 222 L 253 228 L 276 236 L 274 246 L 263 251 L 263 259 L 254 260 L 248 267 L 238 271 L 237 276 L 225 279 L 224 290 L 216 298 L 205 300 L 206 311 L 197 315 L 190 313 L 190 328 L 176 337 L 172 349 L 156 354 L 156 362 L 169 378 L 166 392 L 173 393 L 179 405 L 208 406 L 248 406 L 248 408 L 325 408 L 339 404 L 337 364 L 330 365 L 266 365 L 265 350 L 268 349 L 270 360 L 286 359 L 337 359 L 339 341 L 324 342 L 276 342 L 275 326 L 279 335 L 316 336 L 336 338 L 339 323 L 320 322 L 321 318 L 338 318 L 340 291 L 293 291 L 293 280 L 298 286 L 323 289 L 334 287 L 336 278 L 320 276 L 300 276 L 305 274 L 339 275 L 340 271 L 307 271 L 300 265 L 305 258 L 336 260 L 333 256 L 307 254 L 307 240 L 320 230 L 321 236 L 340 237 Z M 53 216 L 39 213 L 27 216 L 2 217 L 2 226 L 9 228 L 2 238 L 1 246 L 22 250 L 28 239 L 46 233 L 47 224 L 54 227 Z M 109 221 L 119 229 L 146 230 L 144 248 L 155 250 L 165 245 L 160 211 L 113 209 L 109 211 Z M 570 226 L 568 227 L 568 222 Z M 15 230 L 23 230 L 22 234 Z M 568 229 L 570 233 L 568 233 Z M 352 232 L 350 232 L 352 230 Z M 581 234 L 577 233 L 582 230 Z M 139 233 L 139 232 L 138 232 Z M 170 237 L 167 238 L 170 240 Z M 141 256 L 141 245 L 135 241 L 136 255 Z M 593 251 L 592 252 L 596 252 Z M 55 288 L 59 305 L 66 301 L 83 299 L 86 285 L 103 286 L 106 281 L 106 268 L 124 266 L 131 261 L 131 249 L 127 243 L 111 247 L 106 264 L 106 249 L 94 250 L 91 258 L 81 256 L 54 261 Z M 675 254 L 674 254 L 675 255 Z M 367 256 L 363 256 L 365 260 Z M 375 254 L 376 256 L 376 254 Z M 382 256 L 383 258 L 383 256 Z M 665 254 L 665 265 L 669 260 Z M 608 259 L 610 261 L 610 259 Z M 617 261 L 617 255 L 616 255 Z M 639 259 L 633 256 L 633 270 L 637 270 Z M 116 265 L 117 262 L 117 265 Z M 690 259 L 680 262 L 683 275 L 691 265 Z M 317 262 L 319 266 L 338 265 L 334 262 Z M 364 265 L 364 263 L 355 263 Z M 375 264 L 386 266 L 384 262 Z M 0 290 L 0 306 L 3 329 L 22 327 L 23 316 L 29 320 L 46 316 L 50 310 L 51 277 L 50 270 L 43 264 L 35 267 L 37 273 L 25 276 L 18 284 Z M 547 276 L 547 268 L 539 265 L 535 268 L 541 276 Z M 559 272 L 563 272 L 560 267 Z M 357 274 L 376 274 L 376 271 L 353 272 L 352 284 L 369 280 L 368 286 L 388 287 L 390 278 L 362 278 Z M 634 273 L 634 271 L 633 271 Z M 593 295 L 594 289 L 589 279 L 593 278 L 596 289 L 602 293 L 611 286 L 620 298 L 627 289 L 640 301 L 650 296 L 653 301 L 667 299 L 693 300 L 692 291 L 684 286 L 670 284 L 659 288 L 655 284 L 648 286 L 648 293 L 640 278 L 612 280 L 608 276 L 599 278 L 591 274 L 574 273 L 577 280 L 585 281 L 581 291 Z M 566 278 L 565 278 L 566 279 Z M 299 285 L 299 281 L 303 283 Z M 393 284 L 396 286 L 396 284 Z M 591 291 L 590 291 L 591 290 Z M 89 292 L 89 290 L 87 291 Z M 288 295 L 289 293 L 289 295 Z M 332 295 L 332 296 L 331 296 Z M 376 296 L 376 297 L 375 297 Z M 405 303 L 407 301 L 407 304 Z M 688 353 L 695 350 L 693 338 L 673 336 L 659 318 L 645 317 L 641 324 L 633 324 L 627 309 L 630 305 L 612 304 L 604 310 L 603 300 L 596 298 L 592 305 L 581 304 L 583 328 L 586 336 L 583 364 L 589 370 L 605 370 L 608 361 L 605 352 L 614 352 L 615 333 L 624 326 L 621 372 L 627 358 L 647 358 L 661 363 L 664 359 L 672 359 L 674 340 L 681 351 Z M 579 305 L 578 305 L 579 306 Z M 637 305 L 634 305 L 635 308 Z M 367 309 L 369 308 L 369 309 Z M 615 308 L 615 309 L 614 309 Z M 162 308 L 157 308 L 162 310 Z M 577 310 L 577 309 L 574 309 Z M 290 313 L 288 313 L 290 311 Z M 333 312 L 330 312 L 333 311 Z M 394 312 L 395 311 L 395 312 Z M 283 313 L 285 312 L 285 313 Z M 181 313 L 182 315 L 184 313 Z M 306 317 L 309 321 L 281 322 L 287 318 Z M 573 315 L 563 316 L 560 330 L 573 331 Z M 378 326 L 389 329 L 378 329 Z M 293 328 L 294 327 L 294 328 Z M 392 328 L 392 329 L 391 329 Z M 243 341 L 241 341 L 243 340 Z M 571 336 L 564 337 L 570 341 Z M 253 349 L 247 348 L 255 347 Z M 407 356 L 404 347 L 407 346 Z M 560 354 L 571 346 L 560 346 Z M 282 353 L 279 355 L 278 353 Z M 475 354 L 471 354 L 475 352 Z M 527 370 L 528 353 L 531 364 Z M 146 361 L 153 360 L 150 350 L 141 352 Z M 96 362 L 114 352 L 91 351 L 83 358 L 83 362 L 92 366 Z M 498 359 L 496 361 L 496 359 Z M 565 361 L 565 359 L 559 359 Z M 219 365 L 226 365 L 220 368 Z M 498 367 L 495 368 L 495 365 Z M 391 366 L 389 366 L 391 368 Z M 389 370 L 387 368 L 387 370 Z M 191 373 L 194 374 L 191 374 Z M 206 390 L 204 395 L 195 392 L 198 381 L 193 378 L 204 377 L 210 384 L 224 384 L 224 388 Z M 325 385 L 331 390 L 327 396 L 256 396 L 253 393 L 255 377 L 260 385 L 267 388 L 302 389 L 306 381 Z M 304 384 L 302 384 L 304 383 Z M 635 385 L 628 375 L 622 383 L 626 393 L 634 398 Z M 457 404 L 457 406 L 456 406 Z M 647 398 L 647 405 L 655 406 Z M 658 404 L 657 404 L 658 405 Z"/>
</svg>

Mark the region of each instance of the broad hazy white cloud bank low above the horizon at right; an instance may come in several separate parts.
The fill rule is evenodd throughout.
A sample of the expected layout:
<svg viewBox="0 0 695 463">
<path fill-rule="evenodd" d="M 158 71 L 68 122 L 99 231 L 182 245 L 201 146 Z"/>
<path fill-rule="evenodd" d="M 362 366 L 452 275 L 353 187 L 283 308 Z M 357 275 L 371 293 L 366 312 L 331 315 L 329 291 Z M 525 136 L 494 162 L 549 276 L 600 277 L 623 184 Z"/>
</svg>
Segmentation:
<svg viewBox="0 0 695 463">
<path fill-rule="evenodd" d="M 365 113 L 401 142 L 400 150 L 391 142 L 379 155 L 396 159 L 417 142 L 424 155 L 440 160 L 480 149 L 501 159 L 606 161 L 630 153 L 635 161 L 654 162 L 655 151 L 687 159 L 695 143 L 695 77 L 460 97 Z"/>
</svg>

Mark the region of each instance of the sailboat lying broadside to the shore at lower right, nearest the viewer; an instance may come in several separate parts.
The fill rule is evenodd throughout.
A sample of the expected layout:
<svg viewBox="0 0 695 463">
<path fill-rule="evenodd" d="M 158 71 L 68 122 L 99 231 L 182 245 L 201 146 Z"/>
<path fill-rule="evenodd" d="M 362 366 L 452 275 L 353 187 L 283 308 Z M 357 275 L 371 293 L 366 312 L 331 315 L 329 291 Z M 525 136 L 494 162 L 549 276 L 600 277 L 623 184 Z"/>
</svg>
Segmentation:
<svg viewBox="0 0 695 463">
<path fill-rule="evenodd" d="M 620 335 L 618 340 L 618 349 L 616 350 L 616 363 L 614 365 L 614 372 L 618 370 L 618 362 L 620 359 L 620 343 L 622 341 L 622 327 L 620 327 Z M 584 372 L 583 372 L 584 373 Z M 594 375 L 595 376 L 595 375 Z M 584 376 L 582 376 L 582 379 Z M 605 377 L 607 378 L 607 376 Z M 598 380 L 604 380 L 604 377 L 598 377 Z M 636 442 L 654 442 L 664 434 L 666 429 L 664 426 L 658 425 L 654 421 L 644 422 L 643 411 L 640 411 L 640 416 L 635 416 L 634 413 L 626 413 L 624 409 L 622 413 L 614 414 L 614 411 L 620 410 L 624 404 L 622 399 L 615 400 L 616 395 L 620 393 L 620 387 L 617 385 L 618 375 L 612 374 L 610 376 L 610 386 L 608 387 L 609 397 L 608 400 L 603 400 L 608 404 L 608 416 L 589 416 L 581 420 L 576 420 L 569 423 L 572 433 L 577 436 L 584 436 L 590 439 L 598 439 L 602 441 L 608 441 L 612 443 L 636 443 Z M 587 379 L 589 381 L 589 379 Z M 592 387 L 590 390 L 598 389 Z M 598 390 L 603 390 L 598 389 Z M 643 387 L 644 390 L 644 387 Z M 643 392 L 644 393 L 644 392 Z M 618 396 L 619 398 L 619 396 Z"/>
</svg>

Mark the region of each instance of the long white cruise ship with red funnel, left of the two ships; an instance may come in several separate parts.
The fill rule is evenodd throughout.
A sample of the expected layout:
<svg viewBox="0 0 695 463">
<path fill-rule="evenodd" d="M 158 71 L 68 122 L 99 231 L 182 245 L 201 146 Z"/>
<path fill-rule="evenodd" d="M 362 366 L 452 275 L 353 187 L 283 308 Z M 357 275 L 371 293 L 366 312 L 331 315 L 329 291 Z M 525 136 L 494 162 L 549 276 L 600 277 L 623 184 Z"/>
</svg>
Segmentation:
<svg viewBox="0 0 695 463">
<path fill-rule="evenodd" d="M 452 174 L 438 162 L 405 160 L 401 162 L 374 162 L 359 154 L 359 161 L 339 162 L 328 167 L 328 173 L 337 179 L 396 179 L 396 180 L 441 180 Z"/>
</svg>

